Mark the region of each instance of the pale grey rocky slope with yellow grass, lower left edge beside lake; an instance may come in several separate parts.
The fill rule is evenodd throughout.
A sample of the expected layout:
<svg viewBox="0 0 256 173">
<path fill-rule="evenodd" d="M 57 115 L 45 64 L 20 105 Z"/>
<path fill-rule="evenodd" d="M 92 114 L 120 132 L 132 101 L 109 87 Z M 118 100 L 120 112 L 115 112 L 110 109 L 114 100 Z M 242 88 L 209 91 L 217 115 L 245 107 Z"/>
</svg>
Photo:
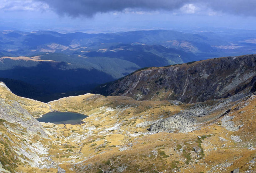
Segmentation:
<svg viewBox="0 0 256 173">
<path fill-rule="evenodd" d="M 13 100 L 17 98 L 0 82 L 0 172 L 21 172 L 19 165 L 39 167 L 43 161 L 40 156 L 48 154 L 42 145 L 42 141 L 49 139 L 48 134 L 18 103 L 24 98 Z"/>
</svg>

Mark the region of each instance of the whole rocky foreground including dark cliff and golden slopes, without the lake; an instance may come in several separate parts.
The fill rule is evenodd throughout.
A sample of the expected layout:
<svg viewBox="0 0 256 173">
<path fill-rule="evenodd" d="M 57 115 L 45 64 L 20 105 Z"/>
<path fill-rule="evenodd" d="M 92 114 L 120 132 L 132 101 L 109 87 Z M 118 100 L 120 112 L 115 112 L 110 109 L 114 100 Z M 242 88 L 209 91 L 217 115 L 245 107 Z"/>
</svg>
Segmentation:
<svg viewBox="0 0 256 173">
<path fill-rule="evenodd" d="M 0 172 L 255 172 L 256 55 L 136 71 L 43 103 L 0 82 Z M 83 124 L 36 118 L 77 112 Z"/>
</svg>

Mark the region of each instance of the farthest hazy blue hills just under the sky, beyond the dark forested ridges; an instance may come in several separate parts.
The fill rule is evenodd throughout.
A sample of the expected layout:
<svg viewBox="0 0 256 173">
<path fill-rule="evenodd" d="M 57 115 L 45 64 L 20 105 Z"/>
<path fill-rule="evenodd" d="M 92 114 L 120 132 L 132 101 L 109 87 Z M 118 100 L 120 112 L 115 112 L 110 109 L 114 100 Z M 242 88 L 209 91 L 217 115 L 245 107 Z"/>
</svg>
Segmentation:
<svg viewBox="0 0 256 173">
<path fill-rule="evenodd" d="M 45 52 L 81 54 L 81 50 L 77 51 L 74 48 L 95 51 L 121 43 L 158 44 L 166 48 L 192 52 L 201 58 L 209 58 L 223 56 L 227 53 L 239 54 L 240 52 L 245 54 L 255 52 L 254 42 L 248 41 L 255 38 L 256 33 L 248 35 L 211 32 L 193 34 L 174 30 L 139 30 L 112 34 L 87 34 L 82 32 L 61 34 L 53 31 L 23 32 L 9 30 L 0 31 L 0 54 L 5 56 L 31 56 Z"/>
</svg>

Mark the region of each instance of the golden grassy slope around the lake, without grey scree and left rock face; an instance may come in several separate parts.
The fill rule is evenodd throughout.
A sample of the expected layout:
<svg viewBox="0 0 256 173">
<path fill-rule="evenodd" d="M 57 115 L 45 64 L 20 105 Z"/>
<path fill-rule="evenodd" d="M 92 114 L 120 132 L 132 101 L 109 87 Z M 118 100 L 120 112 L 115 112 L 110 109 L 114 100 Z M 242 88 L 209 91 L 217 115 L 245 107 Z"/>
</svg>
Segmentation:
<svg viewBox="0 0 256 173">
<path fill-rule="evenodd" d="M 225 129 L 220 118 L 206 119 L 202 121 L 200 129 L 189 133 L 149 134 L 147 128 L 150 123 L 143 126 L 142 122 L 169 117 L 191 104 L 173 105 L 168 101 L 135 101 L 129 97 L 86 94 L 46 105 L 20 98 L 4 89 L 0 92 L 2 98 L 18 100 L 28 110 L 31 109 L 29 105 L 32 105 L 42 109 L 41 112 L 48 111 L 50 105 L 52 110 L 74 111 L 89 116 L 82 125 L 67 124 L 64 127 L 41 123 L 51 138 L 44 142 L 49 148 L 49 156 L 68 172 L 116 171 L 122 166 L 125 167 L 124 172 L 206 172 L 214 166 L 215 172 L 228 172 L 237 167 L 240 171 L 246 171 L 249 166 L 251 170 L 256 169 L 255 165 L 246 164 L 256 154 L 255 150 L 247 149 L 248 144 L 253 147 L 256 145 L 255 95 L 233 103 L 230 113 L 226 115 L 234 116 L 232 121 L 235 125 L 243 124 L 236 132 Z M 30 111 L 33 113 L 38 110 Z M 220 113 L 221 110 L 214 112 Z M 202 137 L 200 140 L 198 135 Z M 240 136 L 242 141 L 235 143 L 231 135 Z M 227 141 L 221 141 L 219 137 Z M 127 150 L 120 151 L 124 147 Z M 192 147 L 201 147 L 203 152 L 195 153 Z M 57 171 L 53 168 L 38 170 L 29 166 L 20 166 L 19 169 L 30 172 Z"/>
</svg>

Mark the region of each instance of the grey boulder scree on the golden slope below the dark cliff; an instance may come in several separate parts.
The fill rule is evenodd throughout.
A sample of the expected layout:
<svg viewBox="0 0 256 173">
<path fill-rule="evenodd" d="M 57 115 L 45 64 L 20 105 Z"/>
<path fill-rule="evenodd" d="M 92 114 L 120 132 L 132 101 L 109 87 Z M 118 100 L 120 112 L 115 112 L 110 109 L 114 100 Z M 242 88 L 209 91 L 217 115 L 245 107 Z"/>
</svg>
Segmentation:
<svg viewBox="0 0 256 173">
<path fill-rule="evenodd" d="M 243 94 L 234 95 L 229 98 L 216 101 L 214 105 L 207 105 L 203 103 L 194 104 L 187 110 L 182 110 L 178 114 L 172 115 L 166 119 L 153 123 L 148 130 L 152 133 L 158 133 L 163 131 L 173 133 L 176 130 L 178 130 L 178 132 L 180 133 L 191 132 L 201 125 L 197 123 L 195 117 L 198 117 L 199 115 L 200 117 L 207 116 L 216 110 L 219 111 L 220 109 L 223 109 L 223 107 L 227 106 L 230 102 L 236 101 L 243 97 Z M 230 109 L 223 110 L 223 113 L 217 115 L 216 117 L 223 116 L 223 118 L 221 119 L 222 126 L 225 126 L 226 129 L 230 131 L 237 131 L 241 126 L 237 127 L 234 125 L 234 122 L 231 121 L 234 116 L 227 116 L 229 111 Z"/>
</svg>

